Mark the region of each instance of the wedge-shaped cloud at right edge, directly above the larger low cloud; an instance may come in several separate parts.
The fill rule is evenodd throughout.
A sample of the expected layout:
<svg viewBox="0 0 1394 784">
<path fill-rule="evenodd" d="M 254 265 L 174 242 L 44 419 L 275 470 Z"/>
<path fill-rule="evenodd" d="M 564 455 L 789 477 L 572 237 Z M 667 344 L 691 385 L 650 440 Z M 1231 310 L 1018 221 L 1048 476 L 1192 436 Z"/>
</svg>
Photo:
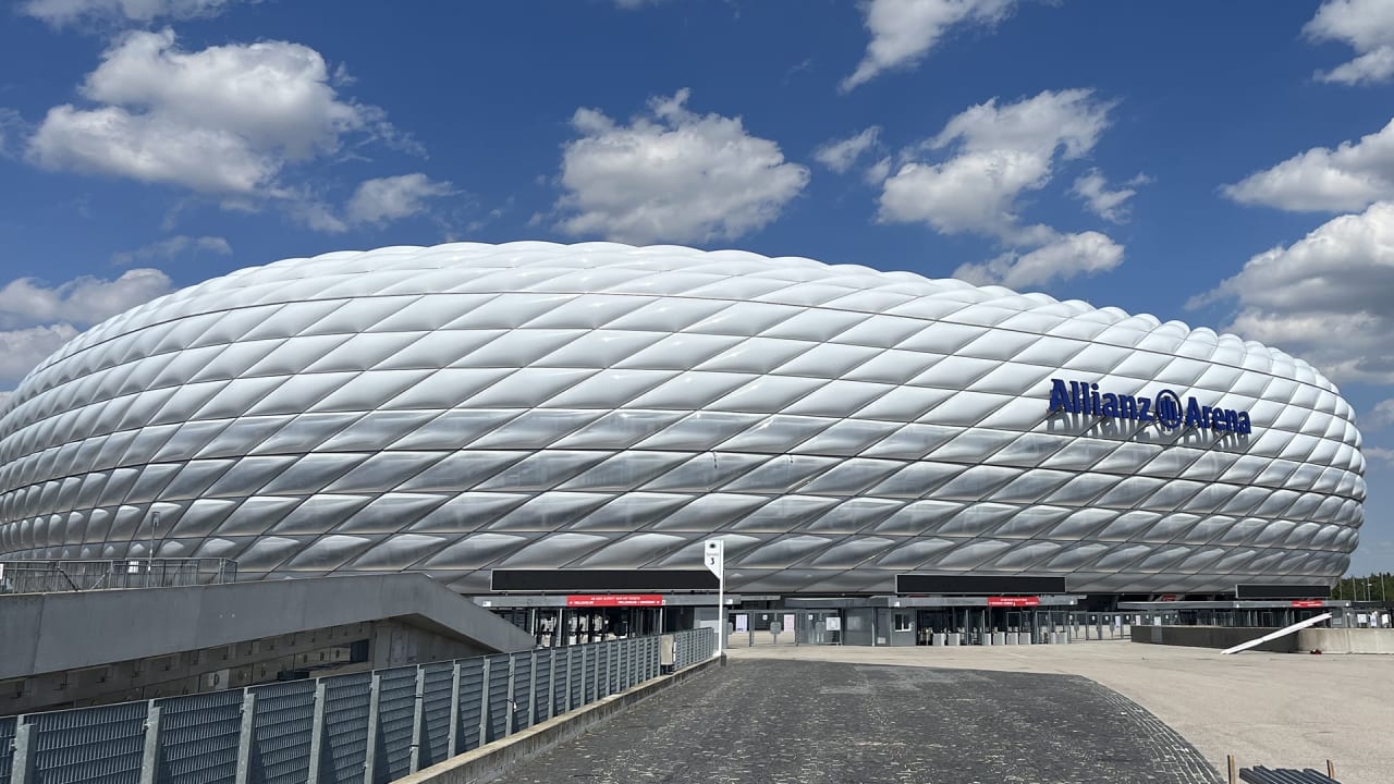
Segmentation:
<svg viewBox="0 0 1394 784">
<path fill-rule="evenodd" d="M 1223 188 L 1241 204 L 1348 212 L 1394 198 L 1394 120 L 1356 142 L 1316 146 Z"/>
</svg>

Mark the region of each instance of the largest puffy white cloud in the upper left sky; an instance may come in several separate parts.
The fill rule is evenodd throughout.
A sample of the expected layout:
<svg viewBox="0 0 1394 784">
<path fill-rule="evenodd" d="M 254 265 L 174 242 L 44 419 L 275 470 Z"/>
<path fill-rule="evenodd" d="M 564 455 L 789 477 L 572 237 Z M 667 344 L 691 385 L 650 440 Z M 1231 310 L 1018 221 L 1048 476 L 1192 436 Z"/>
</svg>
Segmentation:
<svg viewBox="0 0 1394 784">
<path fill-rule="evenodd" d="M 81 92 L 98 106 L 49 110 L 29 141 L 39 166 L 268 197 L 347 133 L 392 135 L 379 109 L 340 100 L 318 52 L 283 40 L 191 53 L 169 29 L 131 32 Z"/>
</svg>

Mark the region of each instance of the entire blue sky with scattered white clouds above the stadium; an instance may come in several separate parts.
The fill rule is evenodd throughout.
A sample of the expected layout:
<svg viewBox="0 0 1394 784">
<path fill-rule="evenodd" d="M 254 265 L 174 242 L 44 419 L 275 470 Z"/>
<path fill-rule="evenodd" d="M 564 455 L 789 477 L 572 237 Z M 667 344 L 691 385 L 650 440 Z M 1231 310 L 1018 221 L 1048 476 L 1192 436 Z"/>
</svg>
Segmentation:
<svg viewBox="0 0 1394 784">
<path fill-rule="evenodd" d="M 1308 359 L 1366 438 L 1354 569 L 1391 571 L 1391 85 L 1387 0 L 10 3 L 0 391 L 287 257 L 806 255 Z"/>
</svg>

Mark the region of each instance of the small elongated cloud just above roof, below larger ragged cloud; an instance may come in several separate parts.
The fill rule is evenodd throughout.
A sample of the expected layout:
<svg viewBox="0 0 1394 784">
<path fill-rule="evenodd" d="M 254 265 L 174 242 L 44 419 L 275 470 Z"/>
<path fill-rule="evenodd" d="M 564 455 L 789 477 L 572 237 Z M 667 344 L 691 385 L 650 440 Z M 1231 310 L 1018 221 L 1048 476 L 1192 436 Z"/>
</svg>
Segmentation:
<svg viewBox="0 0 1394 784">
<path fill-rule="evenodd" d="M 999 283 L 1008 289 L 1023 289 L 1107 272 L 1122 261 L 1122 246 L 1098 232 L 1082 232 L 1057 236 L 1029 252 L 1013 251 L 984 264 L 965 264 L 953 271 L 953 276 L 980 286 Z"/>
</svg>

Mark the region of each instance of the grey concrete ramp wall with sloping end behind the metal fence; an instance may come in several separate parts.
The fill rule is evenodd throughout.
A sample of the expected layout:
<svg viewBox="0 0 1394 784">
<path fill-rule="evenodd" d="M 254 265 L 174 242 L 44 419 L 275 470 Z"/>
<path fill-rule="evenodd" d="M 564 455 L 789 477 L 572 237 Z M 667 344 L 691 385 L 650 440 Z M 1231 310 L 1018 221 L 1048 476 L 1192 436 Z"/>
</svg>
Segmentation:
<svg viewBox="0 0 1394 784">
<path fill-rule="evenodd" d="M 0 596 L 0 714 L 530 647 L 418 573 Z"/>
</svg>

